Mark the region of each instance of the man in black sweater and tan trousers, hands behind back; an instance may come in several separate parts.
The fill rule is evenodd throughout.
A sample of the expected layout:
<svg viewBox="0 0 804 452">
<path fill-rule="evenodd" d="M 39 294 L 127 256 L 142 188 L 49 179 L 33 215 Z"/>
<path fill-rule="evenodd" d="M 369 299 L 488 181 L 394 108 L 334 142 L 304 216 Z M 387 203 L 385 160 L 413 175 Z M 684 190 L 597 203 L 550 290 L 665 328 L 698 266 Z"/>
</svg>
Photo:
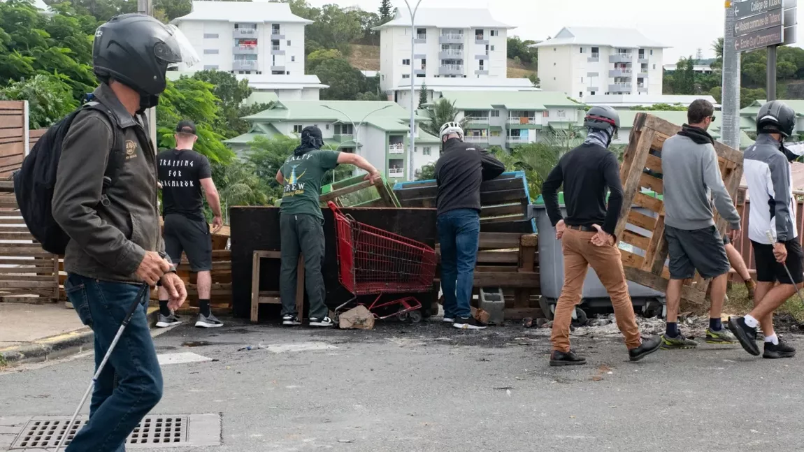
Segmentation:
<svg viewBox="0 0 804 452">
<path fill-rule="evenodd" d="M 630 360 L 641 360 L 661 345 L 658 337 L 643 342 L 639 335 L 614 237 L 622 206 L 622 186 L 617 157 L 607 148 L 620 126 L 620 117 L 613 108 L 594 107 L 589 110 L 584 125 L 589 129 L 584 144 L 561 157 L 542 185 L 544 206 L 564 250 L 564 287 L 556 304 L 550 338 L 553 348 L 550 365 L 553 366 L 586 363 L 585 358 L 577 356 L 569 347 L 569 324 L 576 304 L 580 303 L 589 265 L 609 292 L 617 327 L 626 336 Z M 562 183 L 566 218 L 562 218 L 558 204 L 558 189 Z M 610 193 L 608 209 L 607 188 Z"/>
</svg>

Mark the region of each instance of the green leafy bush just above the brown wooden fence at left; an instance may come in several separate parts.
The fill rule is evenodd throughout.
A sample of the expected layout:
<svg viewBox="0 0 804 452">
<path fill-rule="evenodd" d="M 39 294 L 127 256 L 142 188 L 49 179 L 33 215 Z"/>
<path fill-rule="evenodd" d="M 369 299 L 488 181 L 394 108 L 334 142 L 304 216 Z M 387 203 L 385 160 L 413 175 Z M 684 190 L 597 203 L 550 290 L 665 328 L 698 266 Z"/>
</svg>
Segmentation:
<svg viewBox="0 0 804 452">
<path fill-rule="evenodd" d="M 57 75 L 35 75 L 0 89 L 0 100 L 27 100 L 30 128 L 48 128 L 78 108 L 67 83 Z"/>
</svg>

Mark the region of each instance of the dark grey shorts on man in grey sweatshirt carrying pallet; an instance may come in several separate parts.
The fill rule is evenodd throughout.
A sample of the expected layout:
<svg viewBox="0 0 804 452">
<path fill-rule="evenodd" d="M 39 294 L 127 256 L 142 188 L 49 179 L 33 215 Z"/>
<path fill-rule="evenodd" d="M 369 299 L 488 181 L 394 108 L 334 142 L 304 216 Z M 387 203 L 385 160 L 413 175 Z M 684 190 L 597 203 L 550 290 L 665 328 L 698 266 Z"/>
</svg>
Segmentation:
<svg viewBox="0 0 804 452">
<path fill-rule="evenodd" d="M 696 270 L 704 279 L 728 273 L 726 248 L 715 226 L 683 230 L 665 225 L 664 237 L 671 279 L 690 279 Z"/>
</svg>

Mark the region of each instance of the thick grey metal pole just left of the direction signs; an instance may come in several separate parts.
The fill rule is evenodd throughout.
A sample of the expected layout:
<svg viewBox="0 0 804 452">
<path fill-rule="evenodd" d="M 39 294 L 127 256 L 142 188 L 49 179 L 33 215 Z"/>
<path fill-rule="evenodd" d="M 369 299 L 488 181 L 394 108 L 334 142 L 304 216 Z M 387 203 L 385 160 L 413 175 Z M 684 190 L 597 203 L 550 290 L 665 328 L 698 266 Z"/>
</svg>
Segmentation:
<svg viewBox="0 0 804 452">
<path fill-rule="evenodd" d="M 733 149 L 740 149 L 740 54 L 734 47 L 734 8 L 736 2 L 726 2 L 723 33 L 723 91 L 720 100 L 723 112 L 721 139 Z"/>
</svg>

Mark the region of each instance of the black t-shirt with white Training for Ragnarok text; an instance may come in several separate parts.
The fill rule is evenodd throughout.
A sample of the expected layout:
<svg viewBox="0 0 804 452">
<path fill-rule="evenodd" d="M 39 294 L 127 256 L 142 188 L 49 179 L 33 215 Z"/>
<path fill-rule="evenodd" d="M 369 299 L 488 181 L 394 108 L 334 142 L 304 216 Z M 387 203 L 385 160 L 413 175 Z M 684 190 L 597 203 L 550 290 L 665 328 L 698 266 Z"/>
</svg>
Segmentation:
<svg viewBox="0 0 804 452">
<path fill-rule="evenodd" d="M 157 156 L 162 183 L 162 216 L 183 214 L 203 221 L 201 179 L 212 177 L 207 157 L 192 150 L 170 149 Z"/>
</svg>

